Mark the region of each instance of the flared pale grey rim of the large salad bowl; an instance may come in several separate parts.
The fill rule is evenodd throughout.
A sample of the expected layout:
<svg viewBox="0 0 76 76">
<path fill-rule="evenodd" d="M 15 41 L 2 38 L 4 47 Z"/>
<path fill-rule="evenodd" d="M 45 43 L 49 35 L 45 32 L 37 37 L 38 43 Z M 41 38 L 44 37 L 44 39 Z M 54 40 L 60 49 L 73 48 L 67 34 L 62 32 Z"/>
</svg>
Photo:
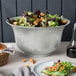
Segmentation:
<svg viewBox="0 0 76 76">
<path fill-rule="evenodd" d="M 10 19 L 12 20 L 12 19 L 20 18 L 20 17 L 21 16 L 17 16 L 17 17 L 12 17 Z M 64 18 L 64 19 L 67 20 L 67 23 L 65 25 L 60 25 L 60 26 L 55 26 L 55 27 L 24 27 L 24 26 L 17 26 L 17 25 L 14 26 L 13 24 L 9 23 L 8 20 L 6 20 L 6 23 L 12 27 L 19 27 L 19 28 L 59 28 L 59 27 L 65 27 L 71 23 L 69 19 L 67 18 Z"/>
</svg>

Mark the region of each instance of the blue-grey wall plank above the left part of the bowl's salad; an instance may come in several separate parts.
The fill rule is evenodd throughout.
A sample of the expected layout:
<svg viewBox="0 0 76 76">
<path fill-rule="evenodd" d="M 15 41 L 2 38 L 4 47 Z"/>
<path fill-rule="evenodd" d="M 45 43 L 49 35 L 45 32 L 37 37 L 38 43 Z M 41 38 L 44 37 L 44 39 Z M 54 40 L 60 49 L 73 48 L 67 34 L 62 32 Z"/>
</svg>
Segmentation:
<svg viewBox="0 0 76 76">
<path fill-rule="evenodd" d="M 31 0 L 17 0 L 17 15 L 22 15 L 24 11 L 31 11 Z"/>
</svg>

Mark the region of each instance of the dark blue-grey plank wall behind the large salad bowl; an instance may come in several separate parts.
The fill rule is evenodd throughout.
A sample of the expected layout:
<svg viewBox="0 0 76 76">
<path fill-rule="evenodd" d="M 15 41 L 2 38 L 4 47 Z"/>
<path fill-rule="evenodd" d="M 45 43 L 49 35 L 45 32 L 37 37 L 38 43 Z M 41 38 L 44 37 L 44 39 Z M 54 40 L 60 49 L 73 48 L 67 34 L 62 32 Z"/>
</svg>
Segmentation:
<svg viewBox="0 0 76 76">
<path fill-rule="evenodd" d="M 0 0 L 0 42 L 15 42 L 12 28 L 5 22 L 7 17 L 38 9 L 70 19 L 71 24 L 64 29 L 62 41 L 71 40 L 73 24 L 76 21 L 76 0 Z"/>
</svg>

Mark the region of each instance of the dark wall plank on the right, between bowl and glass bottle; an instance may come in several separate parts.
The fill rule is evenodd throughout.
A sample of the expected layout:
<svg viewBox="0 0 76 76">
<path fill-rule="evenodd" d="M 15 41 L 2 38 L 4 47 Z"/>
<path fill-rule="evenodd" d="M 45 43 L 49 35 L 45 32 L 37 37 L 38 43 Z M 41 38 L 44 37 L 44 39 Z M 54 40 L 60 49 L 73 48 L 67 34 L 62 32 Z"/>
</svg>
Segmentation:
<svg viewBox="0 0 76 76">
<path fill-rule="evenodd" d="M 71 24 L 64 29 L 62 40 L 68 41 L 71 38 L 73 23 L 76 19 L 76 3 L 75 0 L 62 0 L 62 14 L 71 20 Z"/>
</svg>

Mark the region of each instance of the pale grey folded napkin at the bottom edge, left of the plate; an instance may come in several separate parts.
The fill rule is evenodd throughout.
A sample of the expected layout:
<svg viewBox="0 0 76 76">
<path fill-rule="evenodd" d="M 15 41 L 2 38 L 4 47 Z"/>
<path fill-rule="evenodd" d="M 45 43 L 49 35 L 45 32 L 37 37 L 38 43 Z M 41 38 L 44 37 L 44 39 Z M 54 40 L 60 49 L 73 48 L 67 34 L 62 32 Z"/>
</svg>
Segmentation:
<svg viewBox="0 0 76 76">
<path fill-rule="evenodd" d="M 8 76 L 35 76 L 30 67 L 20 67 L 10 73 Z"/>
</svg>

